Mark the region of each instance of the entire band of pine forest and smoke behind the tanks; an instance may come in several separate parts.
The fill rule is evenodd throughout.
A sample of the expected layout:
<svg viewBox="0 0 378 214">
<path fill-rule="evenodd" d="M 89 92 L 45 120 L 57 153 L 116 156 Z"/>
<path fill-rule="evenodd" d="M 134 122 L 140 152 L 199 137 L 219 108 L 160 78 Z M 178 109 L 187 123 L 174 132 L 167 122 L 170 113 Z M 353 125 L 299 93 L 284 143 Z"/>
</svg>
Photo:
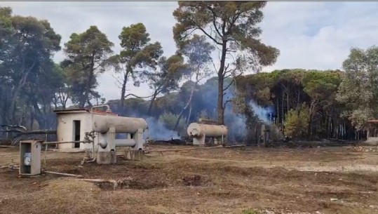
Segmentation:
<svg viewBox="0 0 378 214">
<path fill-rule="evenodd" d="M 342 70 L 261 72 L 279 57 L 259 39 L 265 5 L 180 1 L 170 56 L 142 23 L 120 29 L 119 41 L 90 26 L 61 44 L 48 20 L 0 7 L 0 124 L 55 129 L 54 109 L 107 103 L 113 112 L 146 119 L 151 138 L 184 136 L 200 117 L 227 125 L 233 141 L 254 141 L 258 123 L 292 138 L 365 138 L 367 121 L 378 116 L 378 48 L 351 48 Z M 53 61 L 58 51 L 62 62 Z M 119 100 L 96 91 L 104 72 L 114 74 Z M 147 83 L 151 95 L 127 93 L 130 83 Z"/>
</svg>

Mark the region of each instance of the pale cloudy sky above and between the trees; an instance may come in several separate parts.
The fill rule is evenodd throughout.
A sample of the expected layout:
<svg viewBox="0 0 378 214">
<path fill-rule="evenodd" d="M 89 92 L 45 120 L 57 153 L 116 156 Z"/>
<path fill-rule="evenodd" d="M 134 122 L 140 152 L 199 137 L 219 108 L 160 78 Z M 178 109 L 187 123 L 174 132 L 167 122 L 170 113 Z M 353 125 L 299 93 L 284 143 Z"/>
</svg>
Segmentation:
<svg viewBox="0 0 378 214">
<path fill-rule="evenodd" d="M 122 27 L 142 22 L 151 40 L 161 42 L 164 55 L 175 53 L 172 13 L 177 1 L 2 1 L 1 6 L 11 6 L 15 15 L 48 20 L 62 36 L 61 46 L 73 32 L 81 33 L 96 25 L 115 44 L 114 52 L 119 53 Z M 352 47 L 378 44 L 377 11 L 378 2 L 268 2 L 260 23 L 261 39 L 264 44 L 278 48 L 281 54 L 274 65 L 264 67 L 263 71 L 342 69 Z M 64 58 L 62 52 L 54 56 L 56 62 Z M 97 81 L 100 95 L 107 100 L 119 99 L 121 90 L 112 71 L 105 72 Z M 145 84 L 139 88 L 130 84 L 128 88 L 128 93 L 151 94 Z"/>
</svg>

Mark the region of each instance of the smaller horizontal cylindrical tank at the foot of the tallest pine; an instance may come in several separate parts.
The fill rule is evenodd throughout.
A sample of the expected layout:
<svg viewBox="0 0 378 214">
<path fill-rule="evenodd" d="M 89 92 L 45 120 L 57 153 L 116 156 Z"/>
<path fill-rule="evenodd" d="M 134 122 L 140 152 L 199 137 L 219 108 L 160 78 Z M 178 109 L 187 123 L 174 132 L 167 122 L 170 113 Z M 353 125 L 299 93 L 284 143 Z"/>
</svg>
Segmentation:
<svg viewBox="0 0 378 214">
<path fill-rule="evenodd" d="M 188 135 L 191 137 L 201 137 L 205 134 L 208 138 L 218 138 L 227 135 L 227 126 L 209 125 L 201 123 L 190 123 L 187 128 Z"/>
</svg>

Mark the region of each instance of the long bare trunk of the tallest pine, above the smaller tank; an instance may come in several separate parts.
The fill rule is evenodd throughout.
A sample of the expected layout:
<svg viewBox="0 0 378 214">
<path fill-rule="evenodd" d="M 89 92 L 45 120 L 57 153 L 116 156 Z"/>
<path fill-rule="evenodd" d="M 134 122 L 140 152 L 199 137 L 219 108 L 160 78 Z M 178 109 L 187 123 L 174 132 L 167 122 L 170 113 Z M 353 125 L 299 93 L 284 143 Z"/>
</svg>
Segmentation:
<svg viewBox="0 0 378 214">
<path fill-rule="evenodd" d="M 227 41 L 222 44 L 222 56 L 220 58 L 220 69 L 218 70 L 218 124 L 224 125 L 224 106 L 223 106 L 223 83 L 224 83 L 224 63 L 226 62 Z"/>
</svg>

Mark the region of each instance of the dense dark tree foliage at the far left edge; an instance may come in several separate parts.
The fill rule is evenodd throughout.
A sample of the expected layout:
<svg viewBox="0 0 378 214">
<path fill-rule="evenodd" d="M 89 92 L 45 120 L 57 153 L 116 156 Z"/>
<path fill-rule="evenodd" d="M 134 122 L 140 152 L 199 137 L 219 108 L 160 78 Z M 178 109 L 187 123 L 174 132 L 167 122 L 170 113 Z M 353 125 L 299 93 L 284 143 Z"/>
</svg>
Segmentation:
<svg viewBox="0 0 378 214">
<path fill-rule="evenodd" d="M 13 15 L 11 8 L 3 7 L 0 34 L 1 120 L 19 123 L 25 119 L 27 109 L 31 111 L 28 116 L 33 117 L 39 113 L 39 105 L 43 105 L 43 91 L 31 94 L 31 90 L 40 84 L 51 88 L 53 82 L 46 82 L 45 75 L 55 72 L 51 56 L 60 51 L 61 36 L 47 20 Z"/>
</svg>

